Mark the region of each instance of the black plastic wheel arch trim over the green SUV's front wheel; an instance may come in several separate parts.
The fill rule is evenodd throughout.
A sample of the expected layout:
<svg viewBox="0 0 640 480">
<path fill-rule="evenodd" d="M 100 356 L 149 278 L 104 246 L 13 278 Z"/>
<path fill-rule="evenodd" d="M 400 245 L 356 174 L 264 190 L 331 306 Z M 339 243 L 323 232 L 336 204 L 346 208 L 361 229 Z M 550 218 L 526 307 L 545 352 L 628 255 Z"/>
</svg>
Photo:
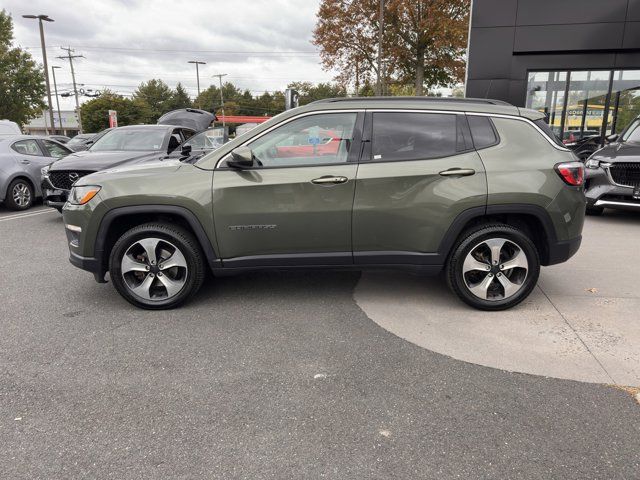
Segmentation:
<svg viewBox="0 0 640 480">
<path fill-rule="evenodd" d="M 109 255 L 118 238 L 127 230 L 149 222 L 166 222 L 190 231 L 196 237 L 209 266 L 215 268 L 220 265 L 204 227 L 191 210 L 176 205 L 135 205 L 109 210 L 100 221 L 94 257 L 102 267 L 102 276 L 108 270 Z"/>
</svg>

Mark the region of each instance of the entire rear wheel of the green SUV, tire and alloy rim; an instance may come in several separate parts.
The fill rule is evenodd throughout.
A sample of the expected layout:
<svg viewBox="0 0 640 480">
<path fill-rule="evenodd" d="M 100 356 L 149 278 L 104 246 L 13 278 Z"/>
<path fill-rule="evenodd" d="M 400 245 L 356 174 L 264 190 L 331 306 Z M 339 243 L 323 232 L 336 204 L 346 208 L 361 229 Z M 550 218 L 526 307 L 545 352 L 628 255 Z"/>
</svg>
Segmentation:
<svg viewBox="0 0 640 480">
<path fill-rule="evenodd" d="M 509 225 L 468 232 L 454 248 L 446 275 L 451 290 L 480 310 L 506 310 L 529 296 L 540 274 L 530 238 Z"/>
</svg>

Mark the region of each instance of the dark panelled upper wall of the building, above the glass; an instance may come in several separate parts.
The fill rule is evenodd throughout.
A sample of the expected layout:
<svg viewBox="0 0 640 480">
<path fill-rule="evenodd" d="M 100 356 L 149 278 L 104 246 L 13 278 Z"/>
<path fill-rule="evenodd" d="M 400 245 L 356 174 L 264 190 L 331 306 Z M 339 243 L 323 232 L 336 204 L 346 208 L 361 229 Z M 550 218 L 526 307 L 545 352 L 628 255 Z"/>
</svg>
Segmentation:
<svg viewBox="0 0 640 480">
<path fill-rule="evenodd" d="M 523 106 L 529 70 L 640 68 L 640 0 L 472 0 L 468 97 Z"/>
</svg>

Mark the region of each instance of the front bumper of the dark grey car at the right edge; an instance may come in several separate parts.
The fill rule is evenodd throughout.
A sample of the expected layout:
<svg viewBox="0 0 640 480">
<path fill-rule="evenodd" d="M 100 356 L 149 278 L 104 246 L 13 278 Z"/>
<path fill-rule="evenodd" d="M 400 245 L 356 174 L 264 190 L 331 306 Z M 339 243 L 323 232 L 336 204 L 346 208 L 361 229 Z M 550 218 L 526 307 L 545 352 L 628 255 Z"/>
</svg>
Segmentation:
<svg viewBox="0 0 640 480">
<path fill-rule="evenodd" d="M 640 198 L 635 198 L 633 193 L 634 187 L 617 185 L 608 169 L 587 169 L 587 207 L 640 210 Z"/>
</svg>

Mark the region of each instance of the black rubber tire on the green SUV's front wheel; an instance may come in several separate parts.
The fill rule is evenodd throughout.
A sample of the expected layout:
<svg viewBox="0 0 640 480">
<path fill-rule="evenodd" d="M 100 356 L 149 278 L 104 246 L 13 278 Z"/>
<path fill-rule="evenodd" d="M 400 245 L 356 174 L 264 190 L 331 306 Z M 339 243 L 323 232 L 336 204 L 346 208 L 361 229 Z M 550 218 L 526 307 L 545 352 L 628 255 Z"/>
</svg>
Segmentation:
<svg viewBox="0 0 640 480">
<path fill-rule="evenodd" d="M 147 250 L 138 242 L 153 243 L 155 240 L 159 242 L 153 248 L 157 258 L 154 264 L 146 256 Z M 160 270 L 162 261 L 168 262 L 169 259 L 175 258 L 175 250 L 172 252 L 172 248 L 182 254 L 184 268 Z M 123 274 L 122 262 L 125 254 L 132 258 L 131 252 L 136 251 L 141 253 L 136 256 L 135 265 L 147 265 L 150 268 L 147 268 L 147 272 L 131 270 Z M 167 252 L 170 256 L 167 256 Z M 175 272 L 175 275 L 172 272 Z M 190 232 L 165 223 L 146 223 L 132 228 L 118 239 L 109 256 L 109 273 L 114 287 L 128 302 L 148 310 L 165 310 L 183 304 L 196 294 L 204 280 L 205 262 L 200 245 Z M 182 285 L 177 293 L 170 295 L 169 288 L 165 287 L 167 280 Z M 145 282 L 150 282 L 145 284 L 150 285 L 146 288 L 148 298 L 143 298 L 132 290 L 136 286 L 145 290 Z"/>
</svg>

